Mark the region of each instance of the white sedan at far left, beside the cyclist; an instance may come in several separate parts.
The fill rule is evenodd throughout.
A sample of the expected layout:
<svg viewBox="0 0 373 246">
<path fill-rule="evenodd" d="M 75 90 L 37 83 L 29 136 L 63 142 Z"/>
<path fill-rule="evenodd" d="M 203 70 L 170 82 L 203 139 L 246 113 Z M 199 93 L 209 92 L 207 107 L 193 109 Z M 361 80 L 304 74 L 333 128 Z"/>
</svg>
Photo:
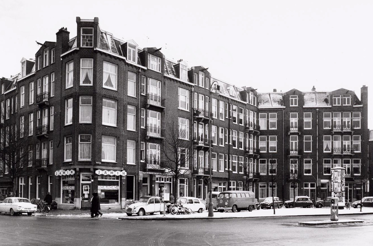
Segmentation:
<svg viewBox="0 0 373 246">
<path fill-rule="evenodd" d="M 7 197 L 0 203 L 0 213 L 10 213 L 10 215 L 27 213 L 27 215 L 32 215 L 37 211 L 36 207 L 26 198 Z"/>
</svg>

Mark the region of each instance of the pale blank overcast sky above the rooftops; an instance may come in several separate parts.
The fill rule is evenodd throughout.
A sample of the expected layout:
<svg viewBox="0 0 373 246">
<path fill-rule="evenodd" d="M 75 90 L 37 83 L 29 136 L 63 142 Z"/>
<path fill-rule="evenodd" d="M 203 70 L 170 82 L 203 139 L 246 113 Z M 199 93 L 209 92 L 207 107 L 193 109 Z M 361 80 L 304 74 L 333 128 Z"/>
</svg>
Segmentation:
<svg viewBox="0 0 373 246">
<path fill-rule="evenodd" d="M 19 73 L 35 41 L 56 41 L 59 28 L 76 36 L 76 16 L 99 17 L 115 37 L 162 47 L 167 58 L 239 87 L 345 88 L 361 98 L 367 85 L 372 112 L 372 13 L 372 0 L 0 0 L 0 77 Z"/>
</svg>

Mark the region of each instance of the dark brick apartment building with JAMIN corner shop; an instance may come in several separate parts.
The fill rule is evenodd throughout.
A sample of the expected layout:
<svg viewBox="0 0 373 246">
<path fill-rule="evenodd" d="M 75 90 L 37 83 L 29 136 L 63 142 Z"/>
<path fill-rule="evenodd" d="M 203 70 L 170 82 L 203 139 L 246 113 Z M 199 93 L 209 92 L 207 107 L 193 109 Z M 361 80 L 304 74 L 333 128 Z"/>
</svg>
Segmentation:
<svg viewBox="0 0 373 246">
<path fill-rule="evenodd" d="M 368 87 L 361 100 L 345 89 L 257 93 L 115 38 L 96 17 L 77 17 L 69 34 L 0 81 L 0 194 L 50 192 L 63 209 L 90 207 L 93 191 L 110 208 L 170 192 L 205 199 L 211 167 L 216 191 L 315 200 L 330 196 L 335 166 L 347 169 L 348 201 L 362 183 L 368 194 Z M 175 126 L 177 187 L 163 147 Z"/>
</svg>

